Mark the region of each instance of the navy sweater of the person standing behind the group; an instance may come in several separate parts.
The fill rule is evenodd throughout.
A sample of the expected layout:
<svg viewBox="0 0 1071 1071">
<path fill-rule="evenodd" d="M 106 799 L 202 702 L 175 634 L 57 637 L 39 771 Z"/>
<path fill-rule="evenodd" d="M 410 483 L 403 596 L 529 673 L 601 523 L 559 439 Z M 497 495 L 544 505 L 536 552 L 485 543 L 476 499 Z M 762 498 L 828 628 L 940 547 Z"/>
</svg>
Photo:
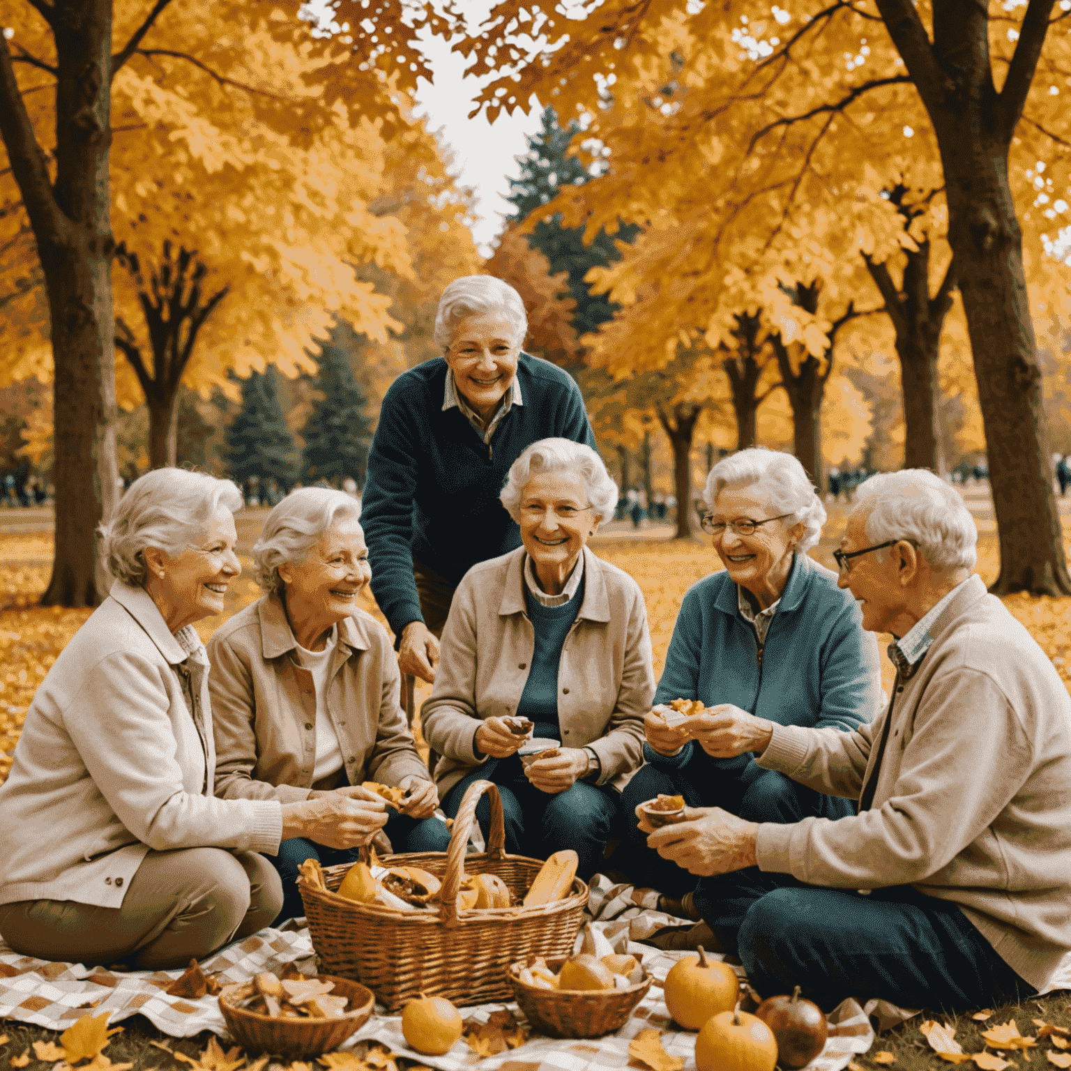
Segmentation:
<svg viewBox="0 0 1071 1071">
<path fill-rule="evenodd" d="M 383 398 L 361 525 L 372 593 L 395 635 L 424 619 L 413 557 L 457 584 L 478 561 L 521 545 L 498 496 L 526 447 L 552 437 L 595 444 L 584 398 L 567 372 L 522 353 L 516 375 L 524 404 L 503 417 L 489 448 L 461 409 L 442 411 L 441 357 L 404 372 Z"/>
</svg>

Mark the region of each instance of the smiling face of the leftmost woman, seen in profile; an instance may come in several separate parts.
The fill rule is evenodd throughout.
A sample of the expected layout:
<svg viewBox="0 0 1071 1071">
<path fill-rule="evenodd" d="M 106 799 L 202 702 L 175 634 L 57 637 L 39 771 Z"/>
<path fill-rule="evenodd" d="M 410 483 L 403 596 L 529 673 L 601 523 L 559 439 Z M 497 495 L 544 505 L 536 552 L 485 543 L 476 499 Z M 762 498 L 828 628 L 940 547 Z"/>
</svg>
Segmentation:
<svg viewBox="0 0 1071 1071">
<path fill-rule="evenodd" d="M 223 613 L 227 586 L 242 571 L 235 554 L 237 542 L 233 514 L 221 506 L 197 542 L 181 554 L 172 558 L 162 550 L 146 552 L 152 593 L 167 607 L 161 612 L 171 632 Z"/>
</svg>

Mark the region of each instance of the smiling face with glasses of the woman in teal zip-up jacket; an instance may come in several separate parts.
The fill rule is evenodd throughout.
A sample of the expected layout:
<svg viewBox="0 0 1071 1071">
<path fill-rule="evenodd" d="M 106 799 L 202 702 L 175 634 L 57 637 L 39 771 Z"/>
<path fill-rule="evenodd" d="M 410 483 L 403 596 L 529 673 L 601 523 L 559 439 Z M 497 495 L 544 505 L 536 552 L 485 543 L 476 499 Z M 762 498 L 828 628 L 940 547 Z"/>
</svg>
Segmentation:
<svg viewBox="0 0 1071 1071">
<path fill-rule="evenodd" d="M 791 572 L 793 550 L 803 533 L 802 522 L 772 521 L 756 528 L 751 536 L 738 536 L 733 531 L 729 522 L 744 517 L 765 521 L 784 513 L 773 508 L 770 493 L 757 483 L 723 487 L 711 512 L 714 521 L 726 522 L 725 531 L 713 537 L 713 544 L 729 577 L 751 591 L 759 605 L 769 605 L 779 599 Z"/>
</svg>

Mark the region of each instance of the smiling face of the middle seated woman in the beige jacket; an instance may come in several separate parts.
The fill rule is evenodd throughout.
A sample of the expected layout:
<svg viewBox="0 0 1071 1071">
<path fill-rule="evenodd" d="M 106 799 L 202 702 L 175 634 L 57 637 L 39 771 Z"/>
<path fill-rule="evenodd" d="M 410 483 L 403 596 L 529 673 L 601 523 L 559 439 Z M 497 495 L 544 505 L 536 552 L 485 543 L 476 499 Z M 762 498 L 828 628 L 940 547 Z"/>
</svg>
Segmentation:
<svg viewBox="0 0 1071 1071">
<path fill-rule="evenodd" d="M 598 523 L 584 480 L 572 472 L 537 472 L 521 495 L 521 541 L 545 586 L 563 583 Z M 559 589 L 560 590 L 560 589 Z"/>
</svg>

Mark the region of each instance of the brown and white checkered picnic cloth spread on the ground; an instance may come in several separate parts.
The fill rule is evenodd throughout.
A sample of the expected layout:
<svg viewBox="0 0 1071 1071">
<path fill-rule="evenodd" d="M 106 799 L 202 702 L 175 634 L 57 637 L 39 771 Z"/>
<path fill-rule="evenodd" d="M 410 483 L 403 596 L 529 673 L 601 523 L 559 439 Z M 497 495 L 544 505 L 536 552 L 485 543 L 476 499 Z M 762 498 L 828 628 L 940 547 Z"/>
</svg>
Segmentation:
<svg viewBox="0 0 1071 1071">
<path fill-rule="evenodd" d="M 439 1071 L 463 1071 L 474 1064 L 486 1071 L 507 1067 L 508 1071 L 601 1071 L 627 1067 L 629 1041 L 640 1030 L 653 1027 L 665 1031 L 662 1044 L 666 1052 L 682 1057 L 685 1071 L 694 1069 L 695 1034 L 674 1028 L 662 997 L 662 983 L 669 968 L 690 953 L 665 952 L 637 944 L 667 925 L 688 923 L 654 910 L 655 894 L 650 890 L 615 886 L 601 875 L 591 883 L 588 906 L 590 921 L 615 951 L 629 952 L 642 960 L 653 978 L 647 996 L 617 1034 L 590 1041 L 554 1040 L 532 1034 L 521 1049 L 483 1060 L 465 1042 L 458 1042 L 446 1056 L 433 1057 L 409 1050 L 402 1036 L 401 1017 L 382 1014 L 382 1009 L 377 1008 L 377 1013 L 343 1047 L 379 1041 L 398 1055 Z M 577 942 L 580 939 L 578 936 Z M 291 963 L 304 974 L 316 971 L 313 945 L 305 929 L 261 930 L 202 961 L 201 969 L 206 975 L 218 975 L 223 982 L 239 982 L 265 970 L 282 974 Z M 164 990 L 181 974 L 181 970 L 120 974 L 80 964 L 49 963 L 20 956 L 0 942 L 0 1017 L 62 1030 L 88 1012 L 93 1015 L 110 1012 L 112 1024 L 140 1013 L 172 1037 L 186 1038 L 201 1030 L 226 1035 L 215 997 L 191 1000 L 165 995 Z M 461 1011 L 465 1019 L 486 1021 L 503 1007 L 518 1019 L 524 1017 L 514 1004 L 479 1005 Z M 836 1008 L 829 1016 L 829 1024 L 826 1049 L 809 1066 L 809 1071 L 840 1071 L 855 1054 L 866 1052 L 873 1044 L 874 1031 L 856 1000 L 845 1000 Z"/>
</svg>

